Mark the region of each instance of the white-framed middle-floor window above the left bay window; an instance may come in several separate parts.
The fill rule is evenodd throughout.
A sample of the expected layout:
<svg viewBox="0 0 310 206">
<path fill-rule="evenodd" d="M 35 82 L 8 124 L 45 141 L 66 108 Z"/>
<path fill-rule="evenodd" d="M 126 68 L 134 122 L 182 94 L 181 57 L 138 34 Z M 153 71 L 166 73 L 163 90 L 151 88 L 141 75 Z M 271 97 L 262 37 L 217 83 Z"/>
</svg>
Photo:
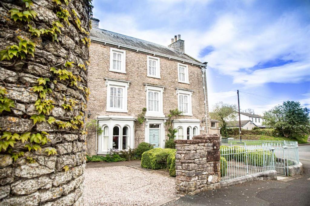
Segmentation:
<svg viewBox="0 0 310 206">
<path fill-rule="evenodd" d="M 113 112 L 127 111 L 127 89 L 129 83 L 122 80 L 105 79 L 107 86 L 107 109 Z"/>
</svg>

